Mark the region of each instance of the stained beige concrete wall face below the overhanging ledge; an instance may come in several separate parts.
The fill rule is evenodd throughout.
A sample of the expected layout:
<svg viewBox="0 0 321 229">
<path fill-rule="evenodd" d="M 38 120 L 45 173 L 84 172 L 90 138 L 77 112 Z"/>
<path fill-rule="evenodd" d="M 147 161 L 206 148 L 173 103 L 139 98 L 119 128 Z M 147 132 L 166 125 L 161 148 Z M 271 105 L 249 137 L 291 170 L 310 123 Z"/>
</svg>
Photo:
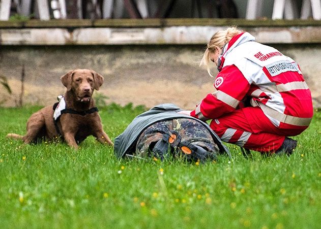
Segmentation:
<svg viewBox="0 0 321 229">
<path fill-rule="evenodd" d="M 321 107 L 321 47 L 319 44 L 273 44 L 298 61 L 311 88 L 315 107 Z M 60 76 L 76 68 L 102 74 L 98 93 L 107 103 L 152 107 L 174 103 L 194 108 L 213 92 L 213 79 L 198 67 L 204 45 L 1 46 L 0 75 L 9 78 L 13 94 L 2 88 L 0 102 L 15 106 L 25 65 L 24 104 L 50 105 L 65 88 Z M 217 71 L 213 68 L 213 74 Z"/>
</svg>

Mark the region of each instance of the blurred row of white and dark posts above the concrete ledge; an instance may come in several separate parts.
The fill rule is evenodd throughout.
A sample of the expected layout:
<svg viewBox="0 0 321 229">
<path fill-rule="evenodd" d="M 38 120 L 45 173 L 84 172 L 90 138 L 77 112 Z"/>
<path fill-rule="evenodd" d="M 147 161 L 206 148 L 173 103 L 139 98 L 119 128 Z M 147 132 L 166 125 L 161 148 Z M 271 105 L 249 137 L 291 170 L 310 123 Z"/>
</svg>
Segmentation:
<svg viewBox="0 0 321 229">
<path fill-rule="evenodd" d="M 321 19 L 320 0 L 2 0 L 0 20 L 108 18 Z"/>
</svg>

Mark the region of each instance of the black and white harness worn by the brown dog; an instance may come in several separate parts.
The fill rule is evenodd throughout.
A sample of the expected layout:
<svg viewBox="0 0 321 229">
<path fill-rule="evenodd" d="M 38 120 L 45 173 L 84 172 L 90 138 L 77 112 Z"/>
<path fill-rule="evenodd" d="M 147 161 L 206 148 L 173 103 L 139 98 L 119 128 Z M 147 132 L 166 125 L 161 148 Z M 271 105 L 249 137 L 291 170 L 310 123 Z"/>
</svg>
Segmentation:
<svg viewBox="0 0 321 229">
<path fill-rule="evenodd" d="M 92 113 L 98 112 L 97 107 L 93 107 L 93 108 L 91 108 L 89 110 L 85 110 L 85 111 L 76 111 L 76 110 L 67 108 L 65 98 L 63 96 L 58 96 L 57 99 L 59 100 L 59 102 L 55 103 L 52 107 L 52 109 L 54 111 L 53 112 L 53 123 L 54 123 L 54 127 L 56 128 L 57 133 L 60 136 L 63 136 L 63 135 L 61 134 L 61 132 L 59 130 L 57 122 L 59 121 L 60 116 L 62 114 L 69 113 L 69 114 L 77 114 L 77 115 L 85 116 L 87 114 L 92 114 Z"/>
</svg>

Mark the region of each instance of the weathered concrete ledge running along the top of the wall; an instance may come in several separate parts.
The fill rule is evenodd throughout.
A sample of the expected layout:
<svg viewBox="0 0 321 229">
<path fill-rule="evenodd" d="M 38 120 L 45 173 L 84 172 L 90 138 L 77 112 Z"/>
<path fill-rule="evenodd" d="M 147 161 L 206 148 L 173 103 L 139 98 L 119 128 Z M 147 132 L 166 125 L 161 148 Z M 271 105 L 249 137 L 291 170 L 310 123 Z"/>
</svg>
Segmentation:
<svg viewBox="0 0 321 229">
<path fill-rule="evenodd" d="M 245 19 L 108 19 L 0 21 L 1 45 L 206 44 L 238 25 L 270 44 L 321 43 L 321 21 Z"/>
</svg>

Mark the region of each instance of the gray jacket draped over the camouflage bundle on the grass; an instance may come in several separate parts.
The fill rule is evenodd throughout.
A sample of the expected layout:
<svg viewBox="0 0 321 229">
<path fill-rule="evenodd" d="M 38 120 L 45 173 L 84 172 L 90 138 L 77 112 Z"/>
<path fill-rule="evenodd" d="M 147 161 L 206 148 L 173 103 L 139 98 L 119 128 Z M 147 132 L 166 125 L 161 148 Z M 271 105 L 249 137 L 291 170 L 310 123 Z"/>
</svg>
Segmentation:
<svg viewBox="0 0 321 229">
<path fill-rule="evenodd" d="M 126 154 L 132 154 L 135 150 L 136 142 L 140 134 L 148 126 L 158 121 L 170 120 L 175 118 L 190 118 L 202 123 L 211 133 L 214 142 L 220 149 L 220 153 L 230 153 L 226 146 L 224 146 L 219 137 L 213 132 L 210 126 L 200 121 L 197 118 L 191 117 L 185 114 L 179 114 L 179 111 L 183 111 L 179 107 L 173 104 L 160 104 L 153 107 L 149 111 L 146 111 L 133 119 L 133 121 L 127 126 L 124 132 L 115 138 L 114 140 L 114 153 L 117 157 L 123 157 Z"/>
</svg>

